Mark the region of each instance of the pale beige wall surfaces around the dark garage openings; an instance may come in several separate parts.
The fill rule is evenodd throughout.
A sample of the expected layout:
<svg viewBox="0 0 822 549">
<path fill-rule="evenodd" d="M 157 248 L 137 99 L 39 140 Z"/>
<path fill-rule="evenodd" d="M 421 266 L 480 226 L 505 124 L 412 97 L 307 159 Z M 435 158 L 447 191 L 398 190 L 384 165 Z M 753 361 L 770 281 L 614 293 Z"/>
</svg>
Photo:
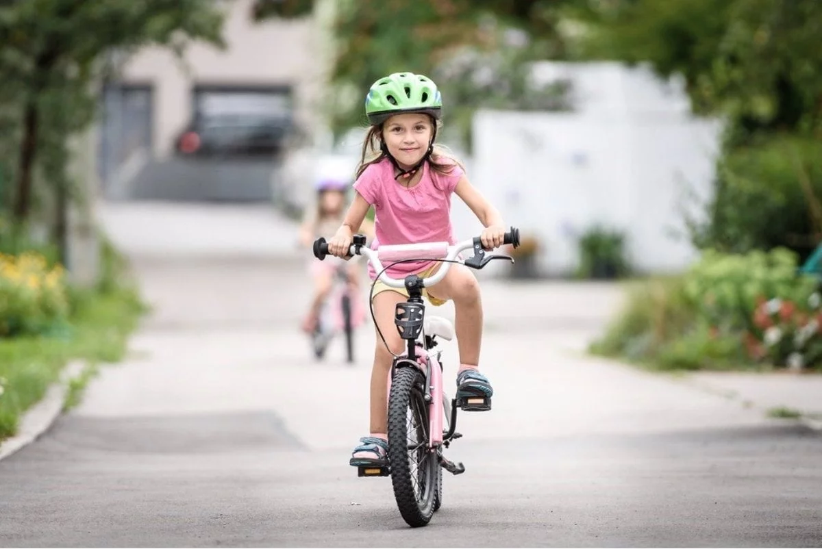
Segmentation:
<svg viewBox="0 0 822 549">
<path fill-rule="evenodd" d="M 321 86 L 325 58 L 311 18 L 255 23 L 252 0 L 231 0 L 224 26 L 227 48 L 192 44 L 184 62 L 163 48 L 144 48 L 122 70 L 126 83 L 154 85 L 154 154 L 169 155 L 173 140 L 192 113 L 192 87 L 216 85 L 293 85 L 296 116 L 316 125 L 312 102 Z"/>
</svg>

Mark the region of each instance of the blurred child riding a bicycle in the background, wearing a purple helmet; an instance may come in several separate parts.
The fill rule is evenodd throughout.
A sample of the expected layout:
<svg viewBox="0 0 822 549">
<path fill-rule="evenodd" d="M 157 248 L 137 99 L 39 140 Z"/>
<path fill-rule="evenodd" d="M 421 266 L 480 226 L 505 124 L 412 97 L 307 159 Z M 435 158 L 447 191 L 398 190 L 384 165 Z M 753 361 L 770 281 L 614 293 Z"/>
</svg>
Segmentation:
<svg viewBox="0 0 822 549">
<path fill-rule="evenodd" d="M 351 183 L 341 178 L 324 178 L 316 183 L 316 208 L 307 208 L 307 215 L 302 219 L 300 227 L 300 244 L 304 247 L 311 247 L 314 239 L 330 234 L 339 227 L 344 220 L 345 203 Z M 363 228 L 366 233 L 370 233 L 370 228 Z M 308 307 L 307 314 L 302 321 L 302 330 L 311 334 L 328 294 L 334 283 L 335 270 L 340 265 L 344 265 L 349 275 L 349 284 L 353 290 L 359 291 L 359 263 L 352 261 L 311 261 L 308 264 L 308 272 L 314 282 L 314 295 Z"/>
</svg>

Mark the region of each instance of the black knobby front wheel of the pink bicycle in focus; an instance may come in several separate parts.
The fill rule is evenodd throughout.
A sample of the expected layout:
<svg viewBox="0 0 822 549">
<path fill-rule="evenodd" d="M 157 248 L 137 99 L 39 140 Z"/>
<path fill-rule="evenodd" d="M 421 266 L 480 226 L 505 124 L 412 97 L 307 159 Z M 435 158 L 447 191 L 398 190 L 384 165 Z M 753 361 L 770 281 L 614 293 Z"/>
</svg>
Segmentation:
<svg viewBox="0 0 822 549">
<path fill-rule="evenodd" d="M 388 458 L 394 497 L 399 514 L 415 528 L 428 524 L 434 514 L 436 475 L 440 468 L 436 452 L 428 451 L 424 383 L 425 377 L 418 368 L 397 367 L 388 403 Z M 412 455 L 410 447 L 414 445 L 418 450 Z"/>
</svg>

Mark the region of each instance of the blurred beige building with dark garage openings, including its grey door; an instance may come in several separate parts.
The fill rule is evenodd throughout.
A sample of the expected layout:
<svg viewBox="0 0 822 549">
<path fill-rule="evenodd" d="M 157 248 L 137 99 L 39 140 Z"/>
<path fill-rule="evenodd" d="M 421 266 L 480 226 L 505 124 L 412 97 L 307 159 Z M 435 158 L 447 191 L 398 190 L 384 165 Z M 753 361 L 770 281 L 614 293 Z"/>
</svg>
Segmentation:
<svg viewBox="0 0 822 549">
<path fill-rule="evenodd" d="M 169 158 L 198 108 L 283 110 L 308 132 L 321 131 L 312 107 L 328 48 L 316 14 L 255 22 L 252 0 L 221 3 L 227 11 L 224 50 L 195 43 L 181 60 L 167 48 L 144 48 L 106 86 L 99 151 L 104 178 L 135 157 Z"/>
</svg>

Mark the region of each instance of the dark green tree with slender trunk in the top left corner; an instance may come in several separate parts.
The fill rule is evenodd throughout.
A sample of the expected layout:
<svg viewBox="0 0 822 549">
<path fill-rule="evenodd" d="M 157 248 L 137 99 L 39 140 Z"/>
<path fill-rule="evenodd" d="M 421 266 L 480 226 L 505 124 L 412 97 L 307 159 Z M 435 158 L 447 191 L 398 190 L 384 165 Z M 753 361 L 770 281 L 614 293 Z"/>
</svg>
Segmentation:
<svg viewBox="0 0 822 549">
<path fill-rule="evenodd" d="M 0 121 L 8 128 L 0 136 L 0 159 L 11 166 L 14 191 L 7 199 L 16 224 L 30 219 L 40 171 L 58 202 L 62 230 L 59 215 L 70 188 L 67 141 L 95 117 L 94 85 L 106 55 L 149 44 L 181 52 L 192 39 L 223 45 L 223 17 L 211 0 L 0 2 Z"/>
</svg>

